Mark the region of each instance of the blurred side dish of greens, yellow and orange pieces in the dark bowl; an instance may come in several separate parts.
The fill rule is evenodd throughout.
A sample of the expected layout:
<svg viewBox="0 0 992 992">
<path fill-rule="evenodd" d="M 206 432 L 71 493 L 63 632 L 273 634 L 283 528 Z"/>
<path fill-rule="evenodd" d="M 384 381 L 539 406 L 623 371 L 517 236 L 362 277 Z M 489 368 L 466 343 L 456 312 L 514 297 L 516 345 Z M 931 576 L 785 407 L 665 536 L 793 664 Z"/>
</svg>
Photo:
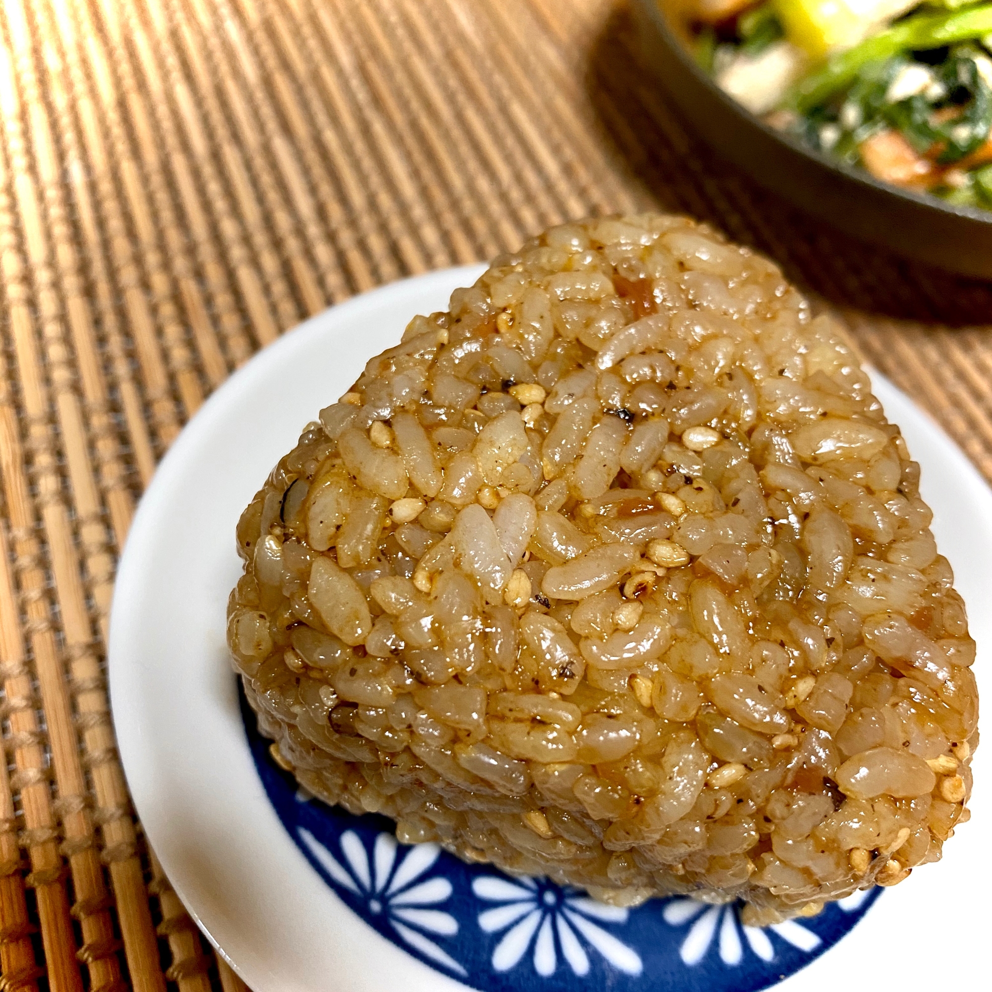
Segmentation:
<svg viewBox="0 0 992 992">
<path fill-rule="evenodd" d="M 992 3 L 663 6 L 697 62 L 766 123 L 883 183 L 992 208 Z"/>
</svg>

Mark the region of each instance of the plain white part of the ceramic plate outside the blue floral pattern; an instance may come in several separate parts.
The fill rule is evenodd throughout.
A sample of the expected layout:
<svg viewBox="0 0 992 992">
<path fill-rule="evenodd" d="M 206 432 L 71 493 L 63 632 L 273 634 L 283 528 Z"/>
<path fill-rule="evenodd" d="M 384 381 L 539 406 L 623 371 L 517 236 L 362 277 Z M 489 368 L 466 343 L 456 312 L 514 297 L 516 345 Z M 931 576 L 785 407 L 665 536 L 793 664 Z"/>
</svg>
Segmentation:
<svg viewBox="0 0 992 992">
<path fill-rule="evenodd" d="M 163 460 L 120 562 L 110 689 L 128 783 L 186 908 L 254 992 L 381 992 L 397 980 L 409 992 L 464 987 L 449 977 L 457 969 L 435 970 L 425 963 L 430 952 L 411 956 L 349 910 L 277 817 L 247 744 L 224 610 L 241 571 L 234 525 L 272 466 L 413 314 L 444 309 L 451 290 L 480 271 L 437 272 L 327 310 L 231 376 Z M 992 493 L 906 396 L 874 381 L 923 465 L 923 495 L 970 606 L 978 681 L 988 693 Z M 885 893 L 836 946 L 777 988 L 825 992 L 846 978 L 856 988 L 930 989 L 949 972 L 981 983 L 992 887 L 979 840 L 989 823 L 987 751 L 975 764 L 972 822 L 943 862 Z M 574 964 L 572 971 L 579 973 Z M 569 987 L 595 986 L 575 978 Z"/>
</svg>

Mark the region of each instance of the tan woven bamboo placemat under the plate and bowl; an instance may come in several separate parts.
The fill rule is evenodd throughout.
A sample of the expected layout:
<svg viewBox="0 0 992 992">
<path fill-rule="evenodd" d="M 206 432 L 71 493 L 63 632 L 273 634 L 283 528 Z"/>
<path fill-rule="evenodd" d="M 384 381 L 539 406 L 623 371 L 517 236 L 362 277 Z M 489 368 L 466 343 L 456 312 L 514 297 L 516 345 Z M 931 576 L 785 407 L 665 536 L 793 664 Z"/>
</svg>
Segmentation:
<svg viewBox="0 0 992 992">
<path fill-rule="evenodd" d="M 837 310 L 992 477 L 992 288 L 735 176 L 635 49 L 614 0 L 4 0 L 0 992 L 244 987 L 129 805 L 107 610 L 157 460 L 310 313 L 565 218 L 682 210 Z"/>
</svg>

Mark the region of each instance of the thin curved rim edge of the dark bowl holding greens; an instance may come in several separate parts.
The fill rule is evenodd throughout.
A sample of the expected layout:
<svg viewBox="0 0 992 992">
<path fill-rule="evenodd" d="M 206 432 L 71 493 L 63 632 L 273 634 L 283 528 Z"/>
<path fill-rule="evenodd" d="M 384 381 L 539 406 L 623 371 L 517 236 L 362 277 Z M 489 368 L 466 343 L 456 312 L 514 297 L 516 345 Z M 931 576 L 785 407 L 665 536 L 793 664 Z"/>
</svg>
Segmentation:
<svg viewBox="0 0 992 992">
<path fill-rule="evenodd" d="M 975 221 L 983 225 L 992 226 L 992 209 L 984 210 L 981 207 L 976 206 L 964 206 L 948 203 L 946 200 L 940 199 L 939 196 L 932 196 L 930 193 L 914 192 L 910 189 L 904 189 L 901 186 L 892 186 L 891 184 L 883 183 L 881 180 L 875 179 L 875 177 L 870 173 L 867 173 L 862 169 L 856 169 L 854 166 L 849 166 L 846 163 L 833 159 L 822 152 L 809 148 L 798 138 L 794 138 L 792 135 L 778 131 L 766 124 L 760 117 L 751 113 L 750 110 L 743 107 L 732 96 L 725 93 L 716 84 L 713 77 L 708 72 L 704 71 L 702 67 L 691 57 L 690 53 L 680 40 L 678 34 L 671 28 L 669 24 L 669 15 L 663 7 L 662 0 L 636 0 L 636 2 L 647 14 L 647 16 L 651 18 L 656 29 L 661 33 L 668 48 L 675 53 L 676 58 L 679 62 L 681 62 L 682 68 L 688 71 L 696 82 L 704 86 L 713 97 L 723 104 L 724 107 L 736 113 L 739 117 L 756 127 L 759 131 L 762 131 L 767 137 L 786 145 L 788 148 L 792 149 L 792 151 L 802 155 L 823 169 L 828 169 L 832 172 L 839 173 L 841 176 L 844 176 L 846 179 L 851 180 L 854 183 L 861 186 L 866 186 L 897 201 L 902 200 L 916 206 L 930 207 L 930 209 L 936 210 L 940 213 L 960 217 L 964 220 Z"/>
</svg>

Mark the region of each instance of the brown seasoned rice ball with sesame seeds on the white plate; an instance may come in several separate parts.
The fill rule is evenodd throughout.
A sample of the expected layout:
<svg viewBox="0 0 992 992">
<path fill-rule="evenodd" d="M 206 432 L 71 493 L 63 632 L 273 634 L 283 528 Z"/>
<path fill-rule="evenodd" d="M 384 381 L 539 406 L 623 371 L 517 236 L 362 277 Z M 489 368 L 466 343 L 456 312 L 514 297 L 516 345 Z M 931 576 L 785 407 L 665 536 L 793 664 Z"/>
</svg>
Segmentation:
<svg viewBox="0 0 992 992">
<path fill-rule="evenodd" d="M 305 430 L 238 525 L 228 640 L 327 803 L 774 921 L 966 817 L 975 650 L 918 478 L 766 259 L 681 217 L 567 224 Z"/>
</svg>

